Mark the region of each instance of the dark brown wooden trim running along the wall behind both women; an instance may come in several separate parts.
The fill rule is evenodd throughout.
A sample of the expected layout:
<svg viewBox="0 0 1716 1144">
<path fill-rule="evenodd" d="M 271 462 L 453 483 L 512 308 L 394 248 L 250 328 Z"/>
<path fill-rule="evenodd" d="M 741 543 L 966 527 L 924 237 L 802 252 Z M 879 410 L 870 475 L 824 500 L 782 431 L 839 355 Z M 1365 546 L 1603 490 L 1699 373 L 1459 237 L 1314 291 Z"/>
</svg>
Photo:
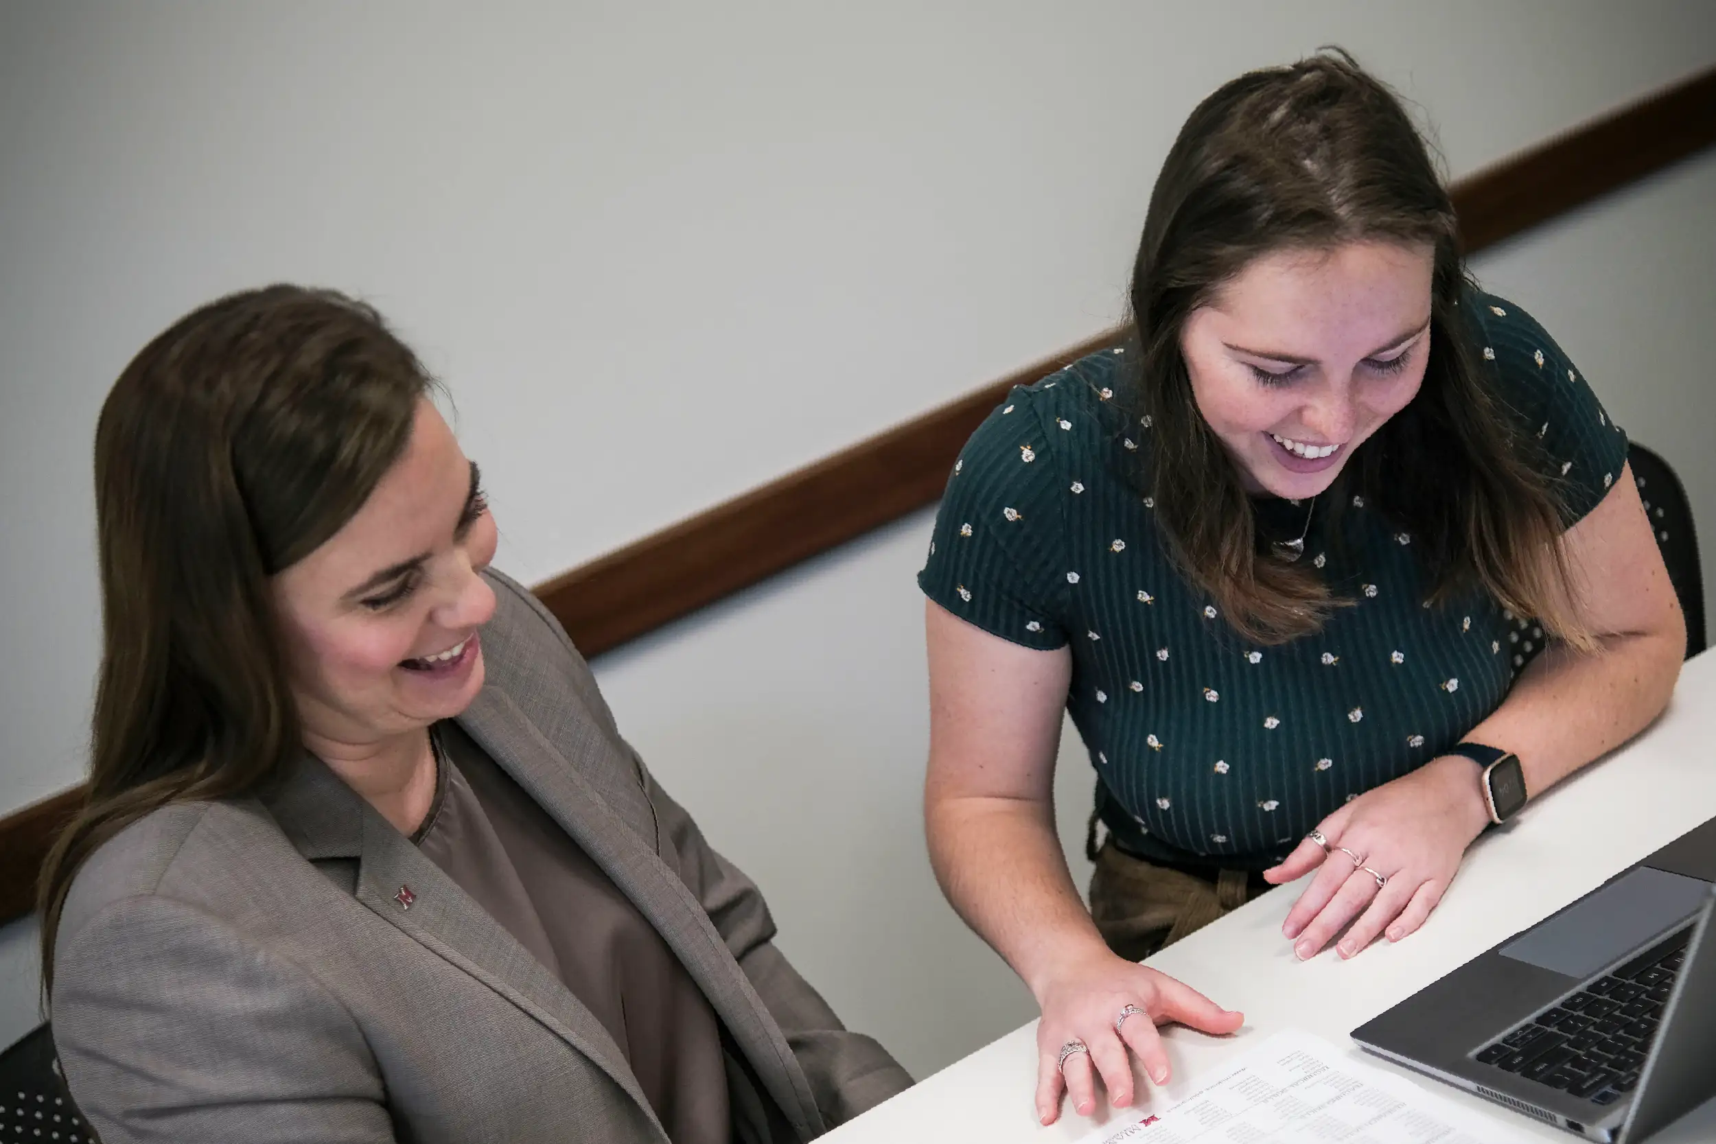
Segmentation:
<svg viewBox="0 0 1716 1144">
<path fill-rule="evenodd" d="M 1450 187 L 1467 254 L 1716 144 L 1716 69 L 1622 106 Z M 1119 329 L 880 432 L 760 489 L 573 568 L 535 593 L 585 655 L 599 655 L 793 564 L 935 503 L 966 437 L 1031 384 Z M 0 818 L 0 923 L 26 914 L 41 859 L 84 787 Z"/>
</svg>

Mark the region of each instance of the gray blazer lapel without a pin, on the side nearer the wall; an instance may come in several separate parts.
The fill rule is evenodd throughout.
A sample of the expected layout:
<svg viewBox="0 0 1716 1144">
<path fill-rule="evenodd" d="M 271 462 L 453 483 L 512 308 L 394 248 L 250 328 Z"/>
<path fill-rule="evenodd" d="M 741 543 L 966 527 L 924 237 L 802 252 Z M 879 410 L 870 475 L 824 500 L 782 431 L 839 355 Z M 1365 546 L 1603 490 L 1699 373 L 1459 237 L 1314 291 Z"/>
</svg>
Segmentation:
<svg viewBox="0 0 1716 1144">
<path fill-rule="evenodd" d="M 743 1048 L 758 1077 L 782 1111 L 803 1137 L 820 1134 L 820 1113 L 815 1096 L 798 1058 L 788 1046 L 781 1029 L 767 1015 L 762 998 L 728 950 L 726 942 L 709 919 L 709 912 L 690 887 L 668 868 L 656 851 L 654 811 L 640 823 L 640 811 L 626 816 L 614 813 L 609 801 L 587 780 L 582 768 L 573 767 L 549 743 L 535 724 L 494 686 L 486 686 L 458 722 L 554 820 L 583 847 L 614 885 L 638 907 L 661 933 L 668 947 L 697 981 L 716 1014 L 726 1022 L 733 1038 Z M 614 751 L 616 748 L 595 727 L 583 731 L 589 750 Z M 635 774 L 631 760 L 616 760 L 604 767 L 614 774 Z M 649 796 L 637 784 L 637 799 L 644 808 Z M 616 792 L 628 803 L 628 792 Z M 644 825 L 640 832 L 638 825 Z M 640 837 L 642 834 L 642 837 Z M 645 846 L 644 839 L 649 839 Z M 808 1113 L 807 1113 L 808 1110 Z"/>
</svg>

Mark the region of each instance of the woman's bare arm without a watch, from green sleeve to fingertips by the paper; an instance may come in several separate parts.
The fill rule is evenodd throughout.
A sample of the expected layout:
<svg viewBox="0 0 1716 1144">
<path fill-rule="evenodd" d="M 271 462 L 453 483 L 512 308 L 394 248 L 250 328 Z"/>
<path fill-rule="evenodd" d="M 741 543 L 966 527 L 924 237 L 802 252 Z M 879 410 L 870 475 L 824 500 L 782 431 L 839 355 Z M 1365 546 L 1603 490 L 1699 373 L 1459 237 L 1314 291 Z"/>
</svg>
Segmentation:
<svg viewBox="0 0 1716 1144">
<path fill-rule="evenodd" d="M 1158 1084 L 1169 1057 L 1157 1024 L 1232 1033 L 1244 1017 L 1155 969 L 1115 957 L 1067 873 L 1055 835 L 1054 777 L 1072 652 L 1009 643 L 925 604 L 930 652 L 930 765 L 923 825 L 930 864 L 959 916 L 1031 986 L 1036 1118 L 1054 1123 L 1060 1096 L 1090 1113 L 1097 1074 L 1109 1103 L 1133 1103 L 1133 1055 Z M 1114 1022 L 1127 1005 L 1145 1014 Z M 1145 1019 L 1148 1015 L 1148 1021 Z M 1124 1034 L 1124 1039 L 1122 1039 Z M 1060 1046 L 1083 1041 L 1090 1053 Z"/>
</svg>

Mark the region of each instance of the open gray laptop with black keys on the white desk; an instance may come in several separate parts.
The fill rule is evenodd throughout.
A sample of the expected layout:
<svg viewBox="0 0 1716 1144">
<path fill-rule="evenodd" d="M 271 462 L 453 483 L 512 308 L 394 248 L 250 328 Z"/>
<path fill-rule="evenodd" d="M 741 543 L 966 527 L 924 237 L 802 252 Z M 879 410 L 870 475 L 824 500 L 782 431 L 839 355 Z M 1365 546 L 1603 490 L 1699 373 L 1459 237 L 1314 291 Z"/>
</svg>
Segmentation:
<svg viewBox="0 0 1716 1144">
<path fill-rule="evenodd" d="M 1716 818 L 1352 1039 L 1610 1144 L 1716 1098 Z"/>
</svg>

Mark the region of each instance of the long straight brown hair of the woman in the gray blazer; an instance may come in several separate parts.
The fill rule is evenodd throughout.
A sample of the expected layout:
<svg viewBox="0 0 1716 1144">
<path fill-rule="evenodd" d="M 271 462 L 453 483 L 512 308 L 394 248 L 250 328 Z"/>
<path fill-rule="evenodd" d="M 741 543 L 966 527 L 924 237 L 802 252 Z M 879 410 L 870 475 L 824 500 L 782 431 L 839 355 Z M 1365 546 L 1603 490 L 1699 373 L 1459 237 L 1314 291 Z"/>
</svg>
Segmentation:
<svg viewBox="0 0 1716 1144">
<path fill-rule="evenodd" d="M 96 847 L 160 806 L 257 791 L 297 751 L 269 576 L 357 513 L 432 384 L 376 310 L 300 286 L 194 310 L 113 384 L 94 449 L 89 803 L 41 875 L 45 996 Z"/>
</svg>

